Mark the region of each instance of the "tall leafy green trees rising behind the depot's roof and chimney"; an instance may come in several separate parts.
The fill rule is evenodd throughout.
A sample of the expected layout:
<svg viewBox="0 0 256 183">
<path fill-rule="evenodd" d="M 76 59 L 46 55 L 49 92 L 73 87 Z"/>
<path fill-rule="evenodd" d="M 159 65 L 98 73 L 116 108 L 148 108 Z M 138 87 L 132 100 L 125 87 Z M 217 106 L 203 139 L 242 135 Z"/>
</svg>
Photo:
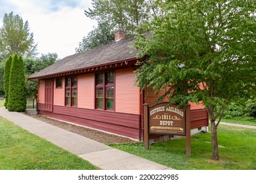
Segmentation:
<svg viewBox="0 0 256 183">
<path fill-rule="evenodd" d="M 96 20 L 98 27 L 83 37 L 75 52 L 91 50 L 114 41 L 114 31 L 118 29 L 125 31 L 125 37 L 148 31 L 151 13 L 158 9 L 153 7 L 152 1 L 93 0 L 93 8 L 85 10 L 85 15 Z"/>
</svg>

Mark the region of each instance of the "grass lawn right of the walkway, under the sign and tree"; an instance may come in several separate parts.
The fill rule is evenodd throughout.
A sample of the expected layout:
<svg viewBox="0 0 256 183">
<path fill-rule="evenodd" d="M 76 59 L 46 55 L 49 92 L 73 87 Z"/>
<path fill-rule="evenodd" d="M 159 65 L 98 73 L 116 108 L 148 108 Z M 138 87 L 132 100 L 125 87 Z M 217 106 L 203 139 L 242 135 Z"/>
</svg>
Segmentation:
<svg viewBox="0 0 256 183">
<path fill-rule="evenodd" d="M 190 158 L 186 157 L 186 140 L 157 142 L 144 149 L 142 143 L 110 144 L 142 158 L 174 169 L 249 170 L 256 169 L 256 129 L 220 125 L 218 128 L 220 160 L 211 160 L 211 134 L 192 136 Z"/>
</svg>

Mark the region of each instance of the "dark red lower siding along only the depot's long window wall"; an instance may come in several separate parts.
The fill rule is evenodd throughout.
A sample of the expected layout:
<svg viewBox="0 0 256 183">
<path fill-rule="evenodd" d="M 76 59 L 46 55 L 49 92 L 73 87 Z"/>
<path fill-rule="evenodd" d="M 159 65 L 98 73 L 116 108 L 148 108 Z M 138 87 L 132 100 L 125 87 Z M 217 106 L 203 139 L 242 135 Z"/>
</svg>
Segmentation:
<svg viewBox="0 0 256 183">
<path fill-rule="evenodd" d="M 139 139 L 140 115 L 138 114 L 62 106 L 54 106 L 53 112 L 39 110 L 39 113 L 75 124 Z"/>
</svg>

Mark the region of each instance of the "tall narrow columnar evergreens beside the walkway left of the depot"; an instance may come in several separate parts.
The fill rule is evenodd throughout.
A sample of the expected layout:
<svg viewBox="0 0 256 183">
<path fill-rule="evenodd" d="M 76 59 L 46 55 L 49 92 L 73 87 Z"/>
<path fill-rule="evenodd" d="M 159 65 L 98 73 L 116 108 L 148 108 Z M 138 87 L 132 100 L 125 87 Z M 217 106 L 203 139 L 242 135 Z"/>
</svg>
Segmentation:
<svg viewBox="0 0 256 183">
<path fill-rule="evenodd" d="M 26 109 L 25 74 L 22 57 L 15 54 L 9 78 L 9 111 L 22 112 Z"/>
</svg>

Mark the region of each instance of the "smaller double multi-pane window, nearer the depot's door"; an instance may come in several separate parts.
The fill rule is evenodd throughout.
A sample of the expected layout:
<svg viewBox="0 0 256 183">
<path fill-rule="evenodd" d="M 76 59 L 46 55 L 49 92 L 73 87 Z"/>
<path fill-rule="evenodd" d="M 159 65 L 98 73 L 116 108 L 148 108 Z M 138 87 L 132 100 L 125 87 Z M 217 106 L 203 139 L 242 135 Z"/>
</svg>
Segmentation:
<svg viewBox="0 0 256 183">
<path fill-rule="evenodd" d="M 77 76 L 66 78 L 65 96 L 66 105 L 77 106 Z"/>
</svg>

